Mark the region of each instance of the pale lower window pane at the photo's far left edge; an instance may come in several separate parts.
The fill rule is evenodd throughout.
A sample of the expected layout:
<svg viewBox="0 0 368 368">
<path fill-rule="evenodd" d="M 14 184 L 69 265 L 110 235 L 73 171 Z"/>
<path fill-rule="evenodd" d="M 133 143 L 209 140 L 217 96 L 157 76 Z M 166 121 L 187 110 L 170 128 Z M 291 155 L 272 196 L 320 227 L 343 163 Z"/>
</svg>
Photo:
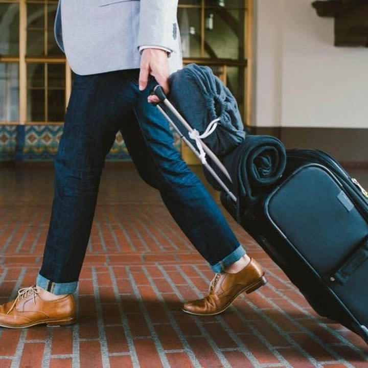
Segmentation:
<svg viewBox="0 0 368 368">
<path fill-rule="evenodd" d="M 0 121 L 19 120 L 18 63 L 0 63 Z"/>
</svg>

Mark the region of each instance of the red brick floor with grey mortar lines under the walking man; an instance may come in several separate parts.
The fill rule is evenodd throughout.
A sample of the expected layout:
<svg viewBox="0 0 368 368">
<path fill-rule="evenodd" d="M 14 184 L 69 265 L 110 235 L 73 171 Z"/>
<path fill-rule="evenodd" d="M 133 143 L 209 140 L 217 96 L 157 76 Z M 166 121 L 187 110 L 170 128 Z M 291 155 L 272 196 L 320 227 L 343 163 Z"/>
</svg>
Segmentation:
<svg viewBox="0 0 368 368">
<path fill-rule="evenodd" d="M 133 169 L 105 171 L 76 295 L 78 324 L 0 329 L 0 368 L 368 366 L 364 341 L 319 317 L 226 213 L 269 283 L 221 315 L 182 313 L 183 302 L 208 290 L 212 271 Z M 0 303 L 34 283 L 52 176 L 0 169 Z"/>
</svg>

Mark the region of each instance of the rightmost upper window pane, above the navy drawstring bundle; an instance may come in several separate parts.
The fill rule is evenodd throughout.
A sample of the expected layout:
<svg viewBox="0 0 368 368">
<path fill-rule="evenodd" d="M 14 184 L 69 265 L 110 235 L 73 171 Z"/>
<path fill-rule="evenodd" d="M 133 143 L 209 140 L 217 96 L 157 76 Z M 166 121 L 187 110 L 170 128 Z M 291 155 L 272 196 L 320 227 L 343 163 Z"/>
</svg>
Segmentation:
<svg viewBox="0 0 368 368">
<path fill-rule="evenodd" d="M 211 9 L 205 13 L 205 56 L 244 58 L 244 11 Z"/>
</svg>

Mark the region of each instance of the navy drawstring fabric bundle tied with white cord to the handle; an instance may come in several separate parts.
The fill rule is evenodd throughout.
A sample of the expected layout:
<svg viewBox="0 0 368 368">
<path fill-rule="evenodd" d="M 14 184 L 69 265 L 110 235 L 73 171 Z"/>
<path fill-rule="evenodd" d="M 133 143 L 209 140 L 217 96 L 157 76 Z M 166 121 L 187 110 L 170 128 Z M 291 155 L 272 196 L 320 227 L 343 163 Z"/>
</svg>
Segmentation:
<svg viewBox="0 0 368 368">
<path fill-rule="evenodd" d="M 244 141 L 246 132 L 237 101 L 209 66 L 188 64 L 170 75 L 169 84 L 168 99 L 199 134 L 216 123 L 215 130 L 202 139 L 216 155 L 226 154 Z M 187 129 L 180 123 L 177 127 L 190 140 Z"/>
</svg>

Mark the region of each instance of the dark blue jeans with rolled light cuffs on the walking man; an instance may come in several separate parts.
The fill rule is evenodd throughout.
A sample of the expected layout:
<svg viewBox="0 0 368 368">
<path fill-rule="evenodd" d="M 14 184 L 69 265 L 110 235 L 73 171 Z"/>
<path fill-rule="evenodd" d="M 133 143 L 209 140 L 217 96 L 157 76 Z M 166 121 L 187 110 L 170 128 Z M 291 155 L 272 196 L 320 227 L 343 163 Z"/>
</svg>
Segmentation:
<svg viewBox="0 0 368 368">
<path fill-rule="evenodd" d="M 55 160 L 55 194 L 37 285 L 55 294 L 76 290 L 94 218 L 105 156 L 121 130 L 142 178 L 159 190 L 183 233 L 215 272 L 244 248 L 218 205 L 173 146 L 169 124 L 147 102 L 139 70 L 75 76 Z"/>
</svg>

